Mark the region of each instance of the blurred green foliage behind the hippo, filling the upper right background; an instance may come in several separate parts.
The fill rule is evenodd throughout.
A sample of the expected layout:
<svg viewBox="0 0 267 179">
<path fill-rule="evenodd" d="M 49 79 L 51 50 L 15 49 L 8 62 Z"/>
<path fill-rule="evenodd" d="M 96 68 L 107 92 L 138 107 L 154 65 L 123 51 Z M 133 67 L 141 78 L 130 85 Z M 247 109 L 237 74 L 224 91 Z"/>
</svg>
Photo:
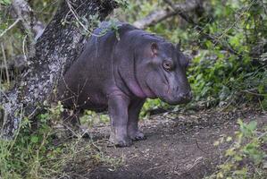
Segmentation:
<svg viewBox="0 0 267 179">
<path fill-rule="evenodd" d="M 195 103 L 204 107 L 237 107 L 253 102 L 266 110 L 266 3 L 212 0 L 208 4 L 210 11 L 195 17 L 201 31 L 177 17 L 148 28 L 174 43 L 181 42 L 184 50 L 191 49 L 197 54 L 188 69 L 194 94 L 189 106 Z M 163 1 L 130 1 L 123 17 L 126 21 L 137 21 L 163 6 L 166 6 Z M 206 34 L 216 43 L 206 38 Z M 149 104 L 154 107 L 151 101 L 147 103 L 146 108 Z"/>
</svg>

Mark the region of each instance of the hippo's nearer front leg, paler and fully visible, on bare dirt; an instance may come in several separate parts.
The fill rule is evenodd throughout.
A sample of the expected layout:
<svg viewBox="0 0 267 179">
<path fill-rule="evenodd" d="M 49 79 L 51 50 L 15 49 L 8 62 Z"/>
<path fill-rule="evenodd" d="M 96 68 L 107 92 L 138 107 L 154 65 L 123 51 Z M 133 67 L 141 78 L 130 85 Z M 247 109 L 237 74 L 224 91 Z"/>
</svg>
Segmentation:
<svg viewBox="0 0 267 179">
<path fill-rule="evenodd" d="M 129 98 L 123 94 L 116 94 L 108 99 L 112 129 L 110 141 L 119 147 L 127 147 L 132 143 L 127 133 L 128 107 Z"/>
</svg>

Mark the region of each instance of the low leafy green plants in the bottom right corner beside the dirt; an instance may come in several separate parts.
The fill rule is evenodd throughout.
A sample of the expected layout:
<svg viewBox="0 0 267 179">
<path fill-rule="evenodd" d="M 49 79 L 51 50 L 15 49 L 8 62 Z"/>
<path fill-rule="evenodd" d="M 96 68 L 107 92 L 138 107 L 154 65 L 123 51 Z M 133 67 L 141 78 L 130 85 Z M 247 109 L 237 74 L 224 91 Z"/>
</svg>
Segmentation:
<svg viewBox="0 0 267 179">
<path fill-rule="evenodd" d="M 249 124 L 238 119 L 239 131 L 233 140 L 230 136 L 221 137 L 214 145 L 219 146 L 224 142 L 232 141 L 229 149 L 225 151 L 225 162 L 218 166 L 218 171 L 208 178 L 263 178 L 266 173 L 266 151 L 264 146 L 267 141 L 267 126 L 263 132 L 256 130 L 255 121 Z"/>
</svg>

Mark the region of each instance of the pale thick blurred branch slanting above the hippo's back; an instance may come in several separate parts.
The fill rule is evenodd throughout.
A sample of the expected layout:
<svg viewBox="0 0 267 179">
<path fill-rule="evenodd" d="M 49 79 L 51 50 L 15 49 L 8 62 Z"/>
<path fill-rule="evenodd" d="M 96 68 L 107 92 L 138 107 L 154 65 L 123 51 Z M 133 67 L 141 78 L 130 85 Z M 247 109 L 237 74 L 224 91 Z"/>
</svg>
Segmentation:
<svg viewBox="0 0 267 179">
<path fill-rule="evenodd" d="M 168 1 L 170 4 L 170 1 Z M 182 4 L 171 4 L 171 8 L 167 7 L 163 10 L 156 10 L 149 15 L 147 15 L 144 19 L 135 21 L 133 23 L 139 29 L 146 29 L 146 27 L 150 25 L 154 25 L 160 21 L 163 21 L 173 15 L 182 15 L 184 19 L 187 19 L 184 13 L 192 12 L 196 10 L 200 6 L 200 0 L 188 0 Z"/>
</svg>

